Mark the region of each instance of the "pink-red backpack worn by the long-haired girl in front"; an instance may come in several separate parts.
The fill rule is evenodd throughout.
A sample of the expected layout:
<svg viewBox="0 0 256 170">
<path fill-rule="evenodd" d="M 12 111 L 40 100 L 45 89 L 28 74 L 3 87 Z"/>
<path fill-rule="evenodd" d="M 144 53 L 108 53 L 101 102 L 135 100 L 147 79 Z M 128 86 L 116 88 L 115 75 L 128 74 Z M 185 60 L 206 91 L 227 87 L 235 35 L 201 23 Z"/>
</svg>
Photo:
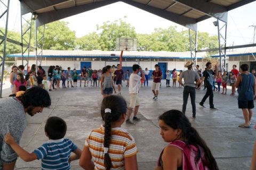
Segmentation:
<svg viewBox="0 0 256 170">
<path fill-rule="evenodd" d="M 182 169 L 183 170 L 209 170 L 207 166 L 204 165 L 204 152 L 202 149 L 201 151 L 201 158 L 195 163 L 195 157 L 198 153 L 198 149 L 193 146 L 187 146 L 185 142 L 176 140 L 168 144 L 168 146 L 174 146 L 182 150 Z M 164 149 L 163 149 L 164 151 Z M 160 157 L 157 162 L 157 166 L 162 165 L 162 155 L 163 151 L 160 154 Z"/>
</svg>

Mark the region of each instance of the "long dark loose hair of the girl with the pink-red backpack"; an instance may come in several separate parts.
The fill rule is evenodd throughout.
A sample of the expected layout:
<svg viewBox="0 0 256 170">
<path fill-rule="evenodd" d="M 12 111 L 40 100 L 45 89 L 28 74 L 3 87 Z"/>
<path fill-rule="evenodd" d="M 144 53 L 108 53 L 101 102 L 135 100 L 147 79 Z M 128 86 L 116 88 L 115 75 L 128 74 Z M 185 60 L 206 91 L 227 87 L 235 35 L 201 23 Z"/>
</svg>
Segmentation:
<svg viewBox="0 0 256 170">
<path fill-rule="evenodd" d="M 218 170 L 218 165 L 212 156 L 211 150 L 207 147 L 205 141 L 200 137 L 195 128 L 191 126 L 188 118 L 182 112 L 178 110 L 170 110 L 163 113 L 158 117 L 165 124 L 170 126 L 172 129 L 180 129 L 182 131 L 181 138 L 189 147 L 190 145 L 195 146 L 198 149 L 198 155 L 195 157 L 195 163 L 198 163 L 201 158 L 201 147 L 204 151 L 204 162 L 207 167 L 212 170 Z"/>
</svg>

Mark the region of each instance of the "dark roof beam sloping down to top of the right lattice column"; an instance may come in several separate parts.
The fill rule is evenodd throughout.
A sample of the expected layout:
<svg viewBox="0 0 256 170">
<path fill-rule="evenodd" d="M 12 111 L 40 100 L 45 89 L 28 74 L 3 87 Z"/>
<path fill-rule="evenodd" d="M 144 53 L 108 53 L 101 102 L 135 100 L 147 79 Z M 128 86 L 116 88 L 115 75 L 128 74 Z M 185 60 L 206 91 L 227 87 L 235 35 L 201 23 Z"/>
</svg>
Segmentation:
<svg viewBox="0 0 256 170">
<path fill-rule="evenodd" d="M 204 14 L 211 16 L 213 18 L 219 19 L 223 22 L 228 20 L 228 10 L 227 7 L 221 6 L 215 3 L 206 2 L 205 0 L 173 0 L 175 2 L 186 5 L 194 10 L 203 12 Z"/>
</svg>

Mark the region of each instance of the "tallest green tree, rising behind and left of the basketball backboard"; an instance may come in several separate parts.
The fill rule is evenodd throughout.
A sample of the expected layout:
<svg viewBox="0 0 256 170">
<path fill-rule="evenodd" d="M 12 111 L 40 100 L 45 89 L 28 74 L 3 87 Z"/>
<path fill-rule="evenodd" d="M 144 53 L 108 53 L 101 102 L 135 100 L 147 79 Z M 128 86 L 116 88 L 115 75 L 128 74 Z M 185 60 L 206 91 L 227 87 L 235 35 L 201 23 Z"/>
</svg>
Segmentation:
<svg viewBox="0 0 256 170">
<path fill-rule="evenodd" d="M 101 50 L 115 50 L 116 38 L 135 38 L 137 35 L 135 28 L 122 19 L 103 22 L 102 25 L 97 25 L 97 30 L 100 31 Z"/>
</svg>

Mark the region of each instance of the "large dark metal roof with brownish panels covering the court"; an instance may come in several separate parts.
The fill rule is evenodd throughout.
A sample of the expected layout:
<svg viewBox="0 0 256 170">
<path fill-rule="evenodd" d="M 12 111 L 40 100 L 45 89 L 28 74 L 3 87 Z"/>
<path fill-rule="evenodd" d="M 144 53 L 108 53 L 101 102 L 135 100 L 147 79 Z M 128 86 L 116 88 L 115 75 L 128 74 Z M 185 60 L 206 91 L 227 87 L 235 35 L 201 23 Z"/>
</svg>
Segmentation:
<svg viewBox="0 0 256 170">
<path fill-rule="evenodd" d="M 197 30 L 197 22 L 214 17 L 227 22 L 227 12 L 255 0 L 20 0 L 21 14 L 37 14 L 37 27 L 95 8 L 124 2 Z"/>
</svg>

